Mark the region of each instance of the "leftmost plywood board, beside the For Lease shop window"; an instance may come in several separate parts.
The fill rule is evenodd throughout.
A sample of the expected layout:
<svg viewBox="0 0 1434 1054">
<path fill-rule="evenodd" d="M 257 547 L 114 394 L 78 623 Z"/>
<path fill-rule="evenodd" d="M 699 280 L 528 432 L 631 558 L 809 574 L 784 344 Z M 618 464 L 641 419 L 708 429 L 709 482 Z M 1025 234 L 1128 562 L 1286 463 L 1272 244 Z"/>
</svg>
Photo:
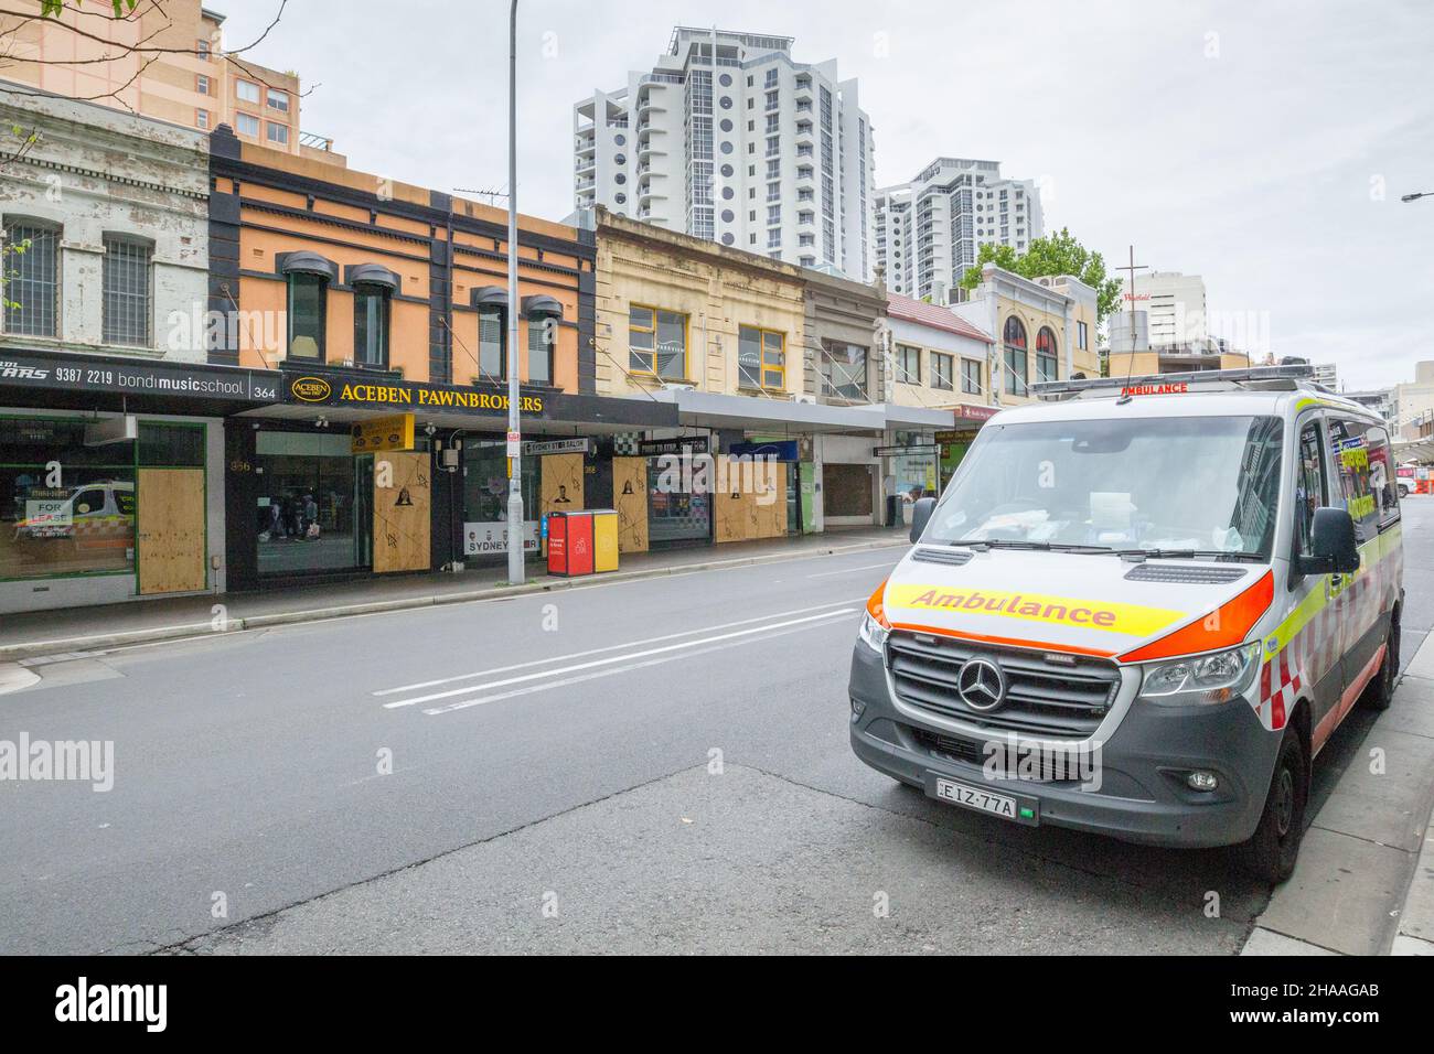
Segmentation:
<svg viewBox="0 0 1434 1054">
<path fill-rule="evenodd" d="M 136 505 L 139 592 L 204 589 L 204 469 L 141 469 Z"/>
</svg>

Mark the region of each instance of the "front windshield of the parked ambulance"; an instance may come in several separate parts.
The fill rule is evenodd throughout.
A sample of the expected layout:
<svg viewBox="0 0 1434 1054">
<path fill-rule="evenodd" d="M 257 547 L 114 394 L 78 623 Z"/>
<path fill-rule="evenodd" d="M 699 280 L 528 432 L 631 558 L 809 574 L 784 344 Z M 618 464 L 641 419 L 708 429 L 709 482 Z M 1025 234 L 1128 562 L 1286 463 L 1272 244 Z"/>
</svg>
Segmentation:
<svg viewBox="0 0 1434 1054">
<path fill-rule="evenodd" d="M 1278 417 L 987 424 L 922 541 L 1268 561 L 1282 432 Z"/>
</svg>

